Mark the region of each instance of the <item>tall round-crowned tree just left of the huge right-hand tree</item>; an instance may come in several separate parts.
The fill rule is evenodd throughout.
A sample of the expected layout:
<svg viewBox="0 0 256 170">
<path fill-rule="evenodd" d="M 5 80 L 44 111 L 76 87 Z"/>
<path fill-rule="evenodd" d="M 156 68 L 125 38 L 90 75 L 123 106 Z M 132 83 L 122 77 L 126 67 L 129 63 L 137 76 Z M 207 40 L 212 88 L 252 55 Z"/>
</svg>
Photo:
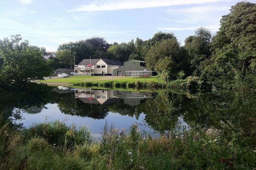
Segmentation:
<svg viewBox="0 0 256 170">
<path fill-rule="evenodd" d="M 199 74 L 199 67 L 201 62 L 211 56 L 211 39 L 212 34 L 210 30 L 201 27 L 195 31 L 195 35 L 191 35 L 185 40 L 184 48 L 189 55 L 191 70 L 195 72 L 195 75 Z"/>
</svg>

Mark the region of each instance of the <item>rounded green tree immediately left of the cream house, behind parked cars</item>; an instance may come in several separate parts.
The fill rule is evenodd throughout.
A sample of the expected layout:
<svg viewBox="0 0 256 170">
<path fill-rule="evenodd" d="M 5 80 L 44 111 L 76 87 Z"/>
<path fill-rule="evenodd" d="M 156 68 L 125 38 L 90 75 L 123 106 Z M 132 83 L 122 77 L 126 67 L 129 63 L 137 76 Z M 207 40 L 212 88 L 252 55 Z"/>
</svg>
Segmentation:
<svg viewBox="0 0 256 170">
<path fill-rule="evenodd" d="M 59 59 L 60 64 L 67 68 L 74 68 L 75 54 L 71 50 L 61 50 L 56 53 L 56 58 Z"/>
</svg>

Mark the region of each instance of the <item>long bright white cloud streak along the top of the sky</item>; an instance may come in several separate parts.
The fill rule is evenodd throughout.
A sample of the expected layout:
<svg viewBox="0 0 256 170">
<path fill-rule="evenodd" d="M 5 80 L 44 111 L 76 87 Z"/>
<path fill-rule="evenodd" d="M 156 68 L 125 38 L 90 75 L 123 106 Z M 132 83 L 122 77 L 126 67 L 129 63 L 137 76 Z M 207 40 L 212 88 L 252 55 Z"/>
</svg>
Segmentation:
<svg viewBox="0 0 256 170">
<path fill-rule="evenodd" d="M 75 11 L 105 11 L 105 10 L 121 10 L 121 9 L 138 9 L 138 8 L 152 8 L 152 7 L 167 7 L 175 5 L 201 4 L 220 2 L 220 0 L 124 0 L 111 1 L 107 0 L 104 3 L 92 3 L 88 5 L 81 5 L 78 8 L 68 10 L 68 12 Z"/>
</svg>

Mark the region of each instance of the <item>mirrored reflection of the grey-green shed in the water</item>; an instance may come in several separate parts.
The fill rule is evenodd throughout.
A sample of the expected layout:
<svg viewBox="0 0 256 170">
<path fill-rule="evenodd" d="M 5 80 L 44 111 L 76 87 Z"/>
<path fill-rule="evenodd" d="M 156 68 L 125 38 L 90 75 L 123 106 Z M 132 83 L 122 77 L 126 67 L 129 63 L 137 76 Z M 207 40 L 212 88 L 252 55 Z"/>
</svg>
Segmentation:
<svg viewBox="0 0 256 170">
<path fill-rule="evenodd" d="M 114 95 L 123 99 L 123 103 L 135 106 L 143 103 L 145 99 L 151 98 L 152 95 L 149 92 L 129 92 L 115 90 Z"/>
</svg>

